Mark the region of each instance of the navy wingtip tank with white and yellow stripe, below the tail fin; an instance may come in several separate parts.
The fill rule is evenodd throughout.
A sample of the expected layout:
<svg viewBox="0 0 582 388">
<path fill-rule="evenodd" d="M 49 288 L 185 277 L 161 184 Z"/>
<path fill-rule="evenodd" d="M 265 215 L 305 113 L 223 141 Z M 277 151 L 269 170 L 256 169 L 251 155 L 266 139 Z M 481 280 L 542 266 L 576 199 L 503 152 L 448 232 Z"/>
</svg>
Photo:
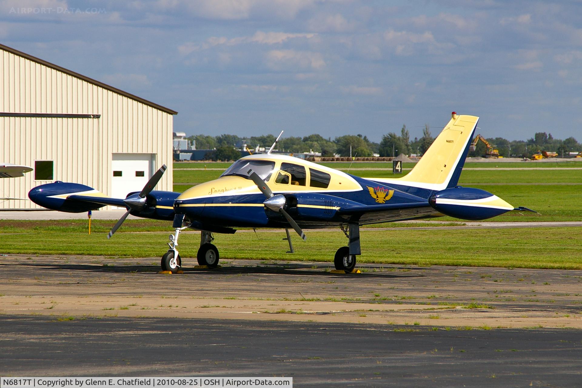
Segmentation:
<svg viewBox="0 0 582 388">
<path fill-rule="evenodd" d="M 466 220 L 484 220 L 514 209 L 497 195 L 461 186 L 438 191 L 428 202 L 444 215 Z"/>
</svg>

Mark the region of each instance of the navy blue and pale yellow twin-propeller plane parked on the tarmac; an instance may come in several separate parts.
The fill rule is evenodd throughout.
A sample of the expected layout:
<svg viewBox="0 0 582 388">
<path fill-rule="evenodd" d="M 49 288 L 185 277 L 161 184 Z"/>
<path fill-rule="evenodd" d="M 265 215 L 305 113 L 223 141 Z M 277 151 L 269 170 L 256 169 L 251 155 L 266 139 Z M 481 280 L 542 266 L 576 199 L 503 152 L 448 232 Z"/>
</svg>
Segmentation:
<svg viewBox="0 0 582 388">
<path fill-rule="evenodd" d="M 129 193 L 124 199 L 61 181 L 35 187 L 29 197 L 42 207 L 63 212 L 125 207 L 127 212 L 108 237 L 129 214 L 173 220 L 175 232 L 161 260 L 162 270 L 171 272 L 182 266 L 178 237 L 186 228 L 201 231 L 198 264 L 216 267 L 219 253 L 212 244 L 213 233 L 235 233 L 237 227 L 280 227 L 287 229 L 290 244 L 289 228 L 305 240 L 303 229 L 336 226 L 348 243 L 336 252 L 335 268 L 352 272 L 361 254 L 361 225 L 443 215 L 482 220 L 529 210 L 514 208 L 487 191 L 457 186 L 477 120 L 453 112 L 423 158 L 400 178 L 361 178 L 292 156 L 273 155 L 273 144 L 268 154 L 244 156 L 218 179 L 184 193 L 152 190 L 166 169 L 162 166 L 140 193 Z"/>
</svg>

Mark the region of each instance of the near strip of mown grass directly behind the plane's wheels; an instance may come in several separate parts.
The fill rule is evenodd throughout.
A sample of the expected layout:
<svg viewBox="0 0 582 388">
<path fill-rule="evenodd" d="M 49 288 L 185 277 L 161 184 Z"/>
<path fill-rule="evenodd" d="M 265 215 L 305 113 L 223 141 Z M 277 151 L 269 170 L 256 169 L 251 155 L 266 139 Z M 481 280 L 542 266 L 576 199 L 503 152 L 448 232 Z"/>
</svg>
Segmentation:
<svg viewBox="0 0 582 388">
<path fill-rule="evenodd" d="M 2 232 L 2 253 L 100 255 L 109 257 L 161 257 L 166 250 L 167 232 L 136 233 L 124 225 L 111 240 L 105 238 L 108 227 L 100 232 L 79 233 L 51 230 L 35 223 L 30 234 Z M 20 232 L 26 226 L 18 226 Z M 54 225 L 52 226 L 55 227 Z M 148 226 L 152 227 L 152 226 Z M 4 230 L 4 228 L 2 228 Z M 30 230 L 29 230 L 30 232 Z M 285 232 L 217 234 L 214 244 L 222 259 L 261 259 L 333 261 L 333 254 L 346 245 L 343 233 L 307 232 L 307 242 L 293 236 L 295 254 L 286 254 Z M 540 227 L 527 229 L 423 229 L 363 230 L 360 262 L 409 265 L 463 265 L 512 268 L 582 269 L 582 233 L 576 227 Z M 200 234 L 180 235 L 180 255 L 184 265 L 196 265 Z M 189 258 L 189 259 L 186 259 Z M 156 259 L 157 260 L 157 259 Z"/>
</svg>

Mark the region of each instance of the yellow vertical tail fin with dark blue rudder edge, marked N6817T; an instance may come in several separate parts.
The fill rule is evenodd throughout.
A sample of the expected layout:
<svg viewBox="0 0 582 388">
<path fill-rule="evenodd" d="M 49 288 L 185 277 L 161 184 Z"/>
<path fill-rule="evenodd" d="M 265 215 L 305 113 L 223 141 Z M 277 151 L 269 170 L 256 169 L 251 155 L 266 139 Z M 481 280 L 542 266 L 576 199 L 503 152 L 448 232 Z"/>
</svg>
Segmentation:
<svg viewBox="0 0 582 388">
<path fill-rule="evenodd" d="M 453 112 L 416 166 L 406 176 L 391 181 L 430 190 L 455 187 L 463 170 L 479 118 Z"/>
</svg>

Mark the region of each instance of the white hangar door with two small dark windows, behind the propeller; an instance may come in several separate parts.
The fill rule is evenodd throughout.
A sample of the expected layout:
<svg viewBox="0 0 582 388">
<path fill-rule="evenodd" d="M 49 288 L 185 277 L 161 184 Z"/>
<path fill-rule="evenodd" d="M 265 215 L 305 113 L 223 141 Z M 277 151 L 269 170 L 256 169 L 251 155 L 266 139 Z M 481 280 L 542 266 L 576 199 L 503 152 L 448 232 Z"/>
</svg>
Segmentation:
<svg viewBox="0 0 582 388">
<path fill-rule="evenodd" d="M 154 154 L 113 154 L 111 196 L 125 198 L 127 193 L 141 191 L 152 175 L 154 162 Z"/>
</svg>

